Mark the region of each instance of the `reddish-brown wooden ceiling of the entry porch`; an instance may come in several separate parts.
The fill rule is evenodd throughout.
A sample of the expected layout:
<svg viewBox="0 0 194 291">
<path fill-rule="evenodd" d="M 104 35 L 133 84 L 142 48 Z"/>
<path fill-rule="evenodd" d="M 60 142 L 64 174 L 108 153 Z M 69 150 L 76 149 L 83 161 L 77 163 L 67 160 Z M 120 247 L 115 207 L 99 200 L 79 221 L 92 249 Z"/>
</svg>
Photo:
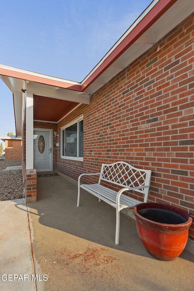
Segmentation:
<svg viewBox="0 0 194 291">
<path fill-rule="evenodd" d="M 79 103 L 33 95 L 34 120 L 58 122 Z"/>
</svg>

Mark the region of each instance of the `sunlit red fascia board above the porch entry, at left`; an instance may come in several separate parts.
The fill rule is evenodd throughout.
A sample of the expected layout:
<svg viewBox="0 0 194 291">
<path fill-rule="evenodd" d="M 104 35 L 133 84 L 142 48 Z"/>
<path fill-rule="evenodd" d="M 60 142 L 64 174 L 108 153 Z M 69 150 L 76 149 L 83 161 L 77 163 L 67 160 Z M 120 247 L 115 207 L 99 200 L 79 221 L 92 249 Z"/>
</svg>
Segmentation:
<svg viewBox="0 0 194 291">
<path fill-rule="evenodd" d="M 47 79 L 44 77 L 34 76 L 22 72 L 16 72 L 4 68 L 0 68 L 0 75 L 81 92 L 80 85 L 73 85 L 65 82 L 60 82 L 57 80 Z"/>
</svg>

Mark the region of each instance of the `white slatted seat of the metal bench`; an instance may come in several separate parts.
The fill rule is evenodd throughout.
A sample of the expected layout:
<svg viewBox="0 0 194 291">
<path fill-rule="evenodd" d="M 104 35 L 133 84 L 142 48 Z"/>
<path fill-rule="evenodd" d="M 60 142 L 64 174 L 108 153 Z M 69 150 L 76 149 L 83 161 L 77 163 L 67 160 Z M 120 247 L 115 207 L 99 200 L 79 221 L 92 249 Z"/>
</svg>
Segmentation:
<svg viewBox="0 0 194 291">
<path fill-rule="evenodd" d="M 95 195 L 96 197 L 105 200 L 104 198 L 108 199 L 110 205 L 112 205 L 113 207 L 116 208 L 116 195 L 117 192 L 109 189 L 105 186 L 102 186 L 100 184 L 82 184 L 80 185 L 80 187 L 82 189 L 85 189 L 86 191 L 88 190 L 89 192 L 92 191 L 93 195 Z M 101 195 L 100 195 L 101 194 Z M 113 203 L 110 203 L 113 202 Z M 133 199 L 129 196 L 126 196 L 124 194 L 121 194 L 120 196 L 120 209 L 123 208 L 132 208 L 133 206 L 137 205 L 138 203 L 140 203 L 140 201 Z"/>
</svg>

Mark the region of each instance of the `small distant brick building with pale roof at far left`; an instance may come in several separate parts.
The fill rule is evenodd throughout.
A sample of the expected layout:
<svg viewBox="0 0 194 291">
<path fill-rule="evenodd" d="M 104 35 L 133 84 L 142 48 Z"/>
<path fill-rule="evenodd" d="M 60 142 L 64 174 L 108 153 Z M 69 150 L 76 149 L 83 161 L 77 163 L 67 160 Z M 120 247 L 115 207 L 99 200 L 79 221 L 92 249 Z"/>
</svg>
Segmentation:
<svg viewBox="0 0 194 291">
<path fill-rule="evenodd" d="M 17 138 L 15 135 L 1 136 L 5 142 L 5 161 L 6 162 L 21 162 L 22 161 L 22 138 Z"/>
</svg>

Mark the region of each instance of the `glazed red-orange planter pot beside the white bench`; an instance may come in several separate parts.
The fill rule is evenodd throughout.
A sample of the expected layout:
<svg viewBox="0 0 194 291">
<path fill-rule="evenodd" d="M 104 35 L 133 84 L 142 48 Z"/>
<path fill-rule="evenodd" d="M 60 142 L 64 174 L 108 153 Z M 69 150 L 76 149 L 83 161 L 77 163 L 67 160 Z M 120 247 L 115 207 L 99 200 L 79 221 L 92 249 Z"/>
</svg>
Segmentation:
<svg viewBox="0 0 194 291">
<path fill-rule="evenodd" d="M 140 203 L 133 212 L 139 237 L 150 255 L 173 261 L 182 253 L 192 223 L 187 212 L 160 203 Z"/>
</svg>

